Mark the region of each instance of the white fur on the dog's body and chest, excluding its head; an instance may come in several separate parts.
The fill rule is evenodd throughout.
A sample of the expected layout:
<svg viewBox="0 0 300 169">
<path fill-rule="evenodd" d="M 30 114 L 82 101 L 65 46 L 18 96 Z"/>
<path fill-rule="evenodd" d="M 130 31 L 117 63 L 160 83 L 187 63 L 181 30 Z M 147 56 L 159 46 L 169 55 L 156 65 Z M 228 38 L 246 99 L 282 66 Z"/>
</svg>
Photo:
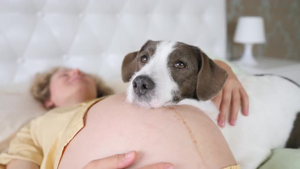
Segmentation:
<svg viewBox="0 0 300 169">
<path fill-rule="evenodd" d="M 283 148 L 300 110 L 300 88 L 277 76 L 239 76 L 249 95 L 249 117 L 238 113 L 235 126 L 220 128 L 242 168 L 256 168 L 276 148 Z M 212 101 L 185 99 L 217 124 L 219 110 Z M 228 120 L 227 120 L 228 121 Z"/>
</svg>

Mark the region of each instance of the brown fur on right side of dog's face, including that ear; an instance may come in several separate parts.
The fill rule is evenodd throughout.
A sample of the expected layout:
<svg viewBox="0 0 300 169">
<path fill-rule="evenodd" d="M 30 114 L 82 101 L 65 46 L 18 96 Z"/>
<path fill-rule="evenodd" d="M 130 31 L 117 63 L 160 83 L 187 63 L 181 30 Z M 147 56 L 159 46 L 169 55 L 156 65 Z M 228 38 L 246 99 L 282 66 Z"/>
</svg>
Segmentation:
<svg viewBox="0 0 300 169">
<path fill-rule="evenodd" d="M 174 69 L 181 61 L 187 66 L 182 70 Z M 215 97 L 227 80 L 227 72 L 196 46 L 177 42 L 168 57 L 168 67 L 179 87 L 181 98 L 196 98 L 206 101 Z M 173 68 L 173 69 L 172 69 Z M 176 99 L 174 101 L 177 101 Z"/>
</svg>

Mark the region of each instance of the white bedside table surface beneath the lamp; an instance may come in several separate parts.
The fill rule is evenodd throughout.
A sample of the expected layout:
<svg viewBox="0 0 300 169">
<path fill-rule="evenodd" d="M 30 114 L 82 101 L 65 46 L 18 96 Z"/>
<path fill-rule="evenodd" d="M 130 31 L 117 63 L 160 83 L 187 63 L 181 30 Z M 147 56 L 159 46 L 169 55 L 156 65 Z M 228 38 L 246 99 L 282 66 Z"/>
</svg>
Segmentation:
<svg viewBox="0 0 300 169">
<path fill-rule="evenodd" d="M 256 58 L 258 65 L 248 66 L 232 61 L 231 63 L 238 69 L 250 74 L 271 73 L 285 76 L 300 84 L 300 62 L 273 58 Z"/>
</svg>

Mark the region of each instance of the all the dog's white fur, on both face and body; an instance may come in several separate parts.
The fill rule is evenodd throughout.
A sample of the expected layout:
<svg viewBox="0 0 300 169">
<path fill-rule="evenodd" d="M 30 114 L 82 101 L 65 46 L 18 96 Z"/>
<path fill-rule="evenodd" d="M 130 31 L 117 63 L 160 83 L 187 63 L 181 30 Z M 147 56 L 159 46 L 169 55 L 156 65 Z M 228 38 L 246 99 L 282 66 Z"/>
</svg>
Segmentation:
<svg viewBox="0 0 300 169">
<path fill-rule="evenodd" d="M 144 107 L 170 104 L 172 91 L 178 90 L 167 68 L 168 55 L 175 42 L 161 42 L 151 61 L 131 79 L 128 100 Z M 136 100 L 132 80 L 148 75 L 156 84 L 151 103 Z M 239 112 L 235 126 L 228 123 L 220 128 L 234 157 L 242 168 L 256 168 L 272 149 L 283 148 L 300 110 L 300 89 L 290 81 L 277 76 L 238 76 L 249 95 L 249 117 Z M 179 91 L 177 91 L 179 92 Z M 185 99 L 178 104 L 199 107 L 216 124 L 219 110 L 211 101 Z"/>
</svg>

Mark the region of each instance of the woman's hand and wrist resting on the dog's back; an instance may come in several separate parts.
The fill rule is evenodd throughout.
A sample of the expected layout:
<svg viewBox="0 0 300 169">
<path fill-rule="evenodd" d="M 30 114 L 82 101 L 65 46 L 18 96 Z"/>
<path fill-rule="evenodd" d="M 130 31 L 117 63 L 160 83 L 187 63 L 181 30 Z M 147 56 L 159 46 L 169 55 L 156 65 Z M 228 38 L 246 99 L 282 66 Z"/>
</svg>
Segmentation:
<svg viewBox="0 0 300 169">
<path fill-rule="evenodd" d="M 226 116 L 229 112 L 229 108 L 231 107 L 229 123 L 234 126 L 240 106 L 242 106 L 243 115 L 249 115 L 249 98 L 244 87 L 241 82 L 238 81 L 231 68 L 222 61 L 215 60 L 214 62 L 228 73 L 228 79 L 225 82 L 223 89 L 215 98 L 212 99 L 212 101 L 220 109 L 218 124 L 220 127 L 225 126 Z"/>
</svg>

